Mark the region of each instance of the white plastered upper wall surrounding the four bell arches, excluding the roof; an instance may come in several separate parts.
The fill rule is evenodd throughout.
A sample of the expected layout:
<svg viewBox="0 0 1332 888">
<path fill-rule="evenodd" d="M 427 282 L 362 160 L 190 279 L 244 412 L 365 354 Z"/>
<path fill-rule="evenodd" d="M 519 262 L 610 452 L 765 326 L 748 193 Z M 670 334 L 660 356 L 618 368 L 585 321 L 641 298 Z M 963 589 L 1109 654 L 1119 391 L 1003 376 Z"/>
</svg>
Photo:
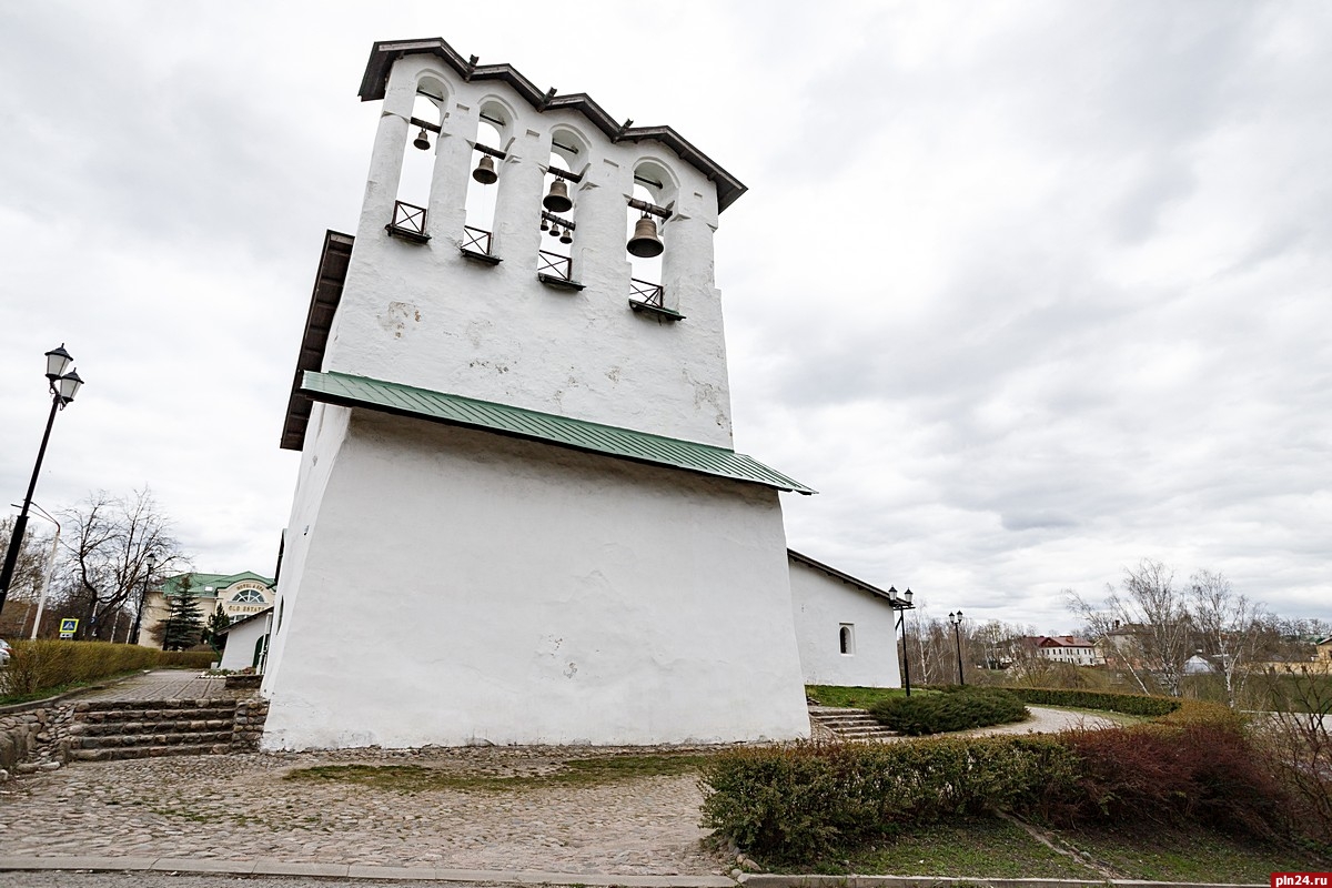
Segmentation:
<svg viewBox="0 0 1332 888">
<path fill-rule="evenodd" d="M 414 136 L 408 120 L 422 77 L 446 88 L 429 201 L 429 244 L 385 234 L 398 173 Z M 480 109 L 511 114 L 500 181 L 493 253 L 485 265 L 460 252 L 470 141 Z M 730 383 L 721 293 L 713 278 L 715 188 L 662 145 L 611 142 L 582 114 L 538 112 L 500 81 L 466 83 L 429 56 L 400 60 L 389 79 L 366 200 L 325 370 L 366 375 L 531 410 L 731 446 Z M 573 277 L 581 292 L 537 280 L 545 168 L 551 130 L 578 132 L 585 156 L 570 164 L 577 230 Z M 666 321 L 629 306 L 626 198 L 634 170 L 670 173 L 657 200 L 674 202 L 662 225 Z"/>
</svg>

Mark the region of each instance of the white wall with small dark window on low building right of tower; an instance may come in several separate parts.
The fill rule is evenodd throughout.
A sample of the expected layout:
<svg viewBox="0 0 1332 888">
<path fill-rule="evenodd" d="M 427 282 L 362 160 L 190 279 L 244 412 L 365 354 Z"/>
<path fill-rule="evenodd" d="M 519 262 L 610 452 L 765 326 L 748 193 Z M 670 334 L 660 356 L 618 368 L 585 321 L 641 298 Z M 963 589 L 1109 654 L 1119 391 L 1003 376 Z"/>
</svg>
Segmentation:
<svg viewBox="0 0 1332 888">
<path fill-rule="evenodd" d="M 790 566 L 805 683 L 902 687 L 888 603 L 794 558 Z M 847 654 L 840 646 L 843 626 L 851 628 Z"/>
</svg>

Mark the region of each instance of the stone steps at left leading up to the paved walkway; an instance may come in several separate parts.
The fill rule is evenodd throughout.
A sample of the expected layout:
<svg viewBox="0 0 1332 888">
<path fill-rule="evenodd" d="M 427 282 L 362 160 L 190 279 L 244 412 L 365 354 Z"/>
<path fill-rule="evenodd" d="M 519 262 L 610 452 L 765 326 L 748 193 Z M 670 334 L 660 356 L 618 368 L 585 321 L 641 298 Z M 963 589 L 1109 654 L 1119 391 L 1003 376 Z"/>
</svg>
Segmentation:
<svg viewBox="0 0 1332 888">
<path fill-rule="evenodd" d="M 250 711 L 257 703 L 225 698 L 77 703 L 68 726 L 68 755 L 75 762 L 108 762 L 253 748 L 254 723 L 261 724 L 264 716 Z"/>
</svg>

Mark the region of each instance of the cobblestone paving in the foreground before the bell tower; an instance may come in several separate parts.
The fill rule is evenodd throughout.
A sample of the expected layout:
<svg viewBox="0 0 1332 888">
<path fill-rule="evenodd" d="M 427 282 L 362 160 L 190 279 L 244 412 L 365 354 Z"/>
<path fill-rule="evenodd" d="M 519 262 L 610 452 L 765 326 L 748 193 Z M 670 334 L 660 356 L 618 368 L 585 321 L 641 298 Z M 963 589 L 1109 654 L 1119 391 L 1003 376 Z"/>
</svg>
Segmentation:
<svg viewBox="0 0 1332 888">
<path fill-rule="evenodd" d="M 598 751 L 601 755 L 606 751 Z M 627 751 L 626 751 L 627 752 Z M 634 750 L 642 755 L 643 750 Z M 590 751 L 488 747 L 75 763 L 0 784 L 16 856 L 192 859 L 713 875 L 694 776 L 589 787 L 397 792 L 284 780 L 314 764 L 539 774 Z"/>
</svg>

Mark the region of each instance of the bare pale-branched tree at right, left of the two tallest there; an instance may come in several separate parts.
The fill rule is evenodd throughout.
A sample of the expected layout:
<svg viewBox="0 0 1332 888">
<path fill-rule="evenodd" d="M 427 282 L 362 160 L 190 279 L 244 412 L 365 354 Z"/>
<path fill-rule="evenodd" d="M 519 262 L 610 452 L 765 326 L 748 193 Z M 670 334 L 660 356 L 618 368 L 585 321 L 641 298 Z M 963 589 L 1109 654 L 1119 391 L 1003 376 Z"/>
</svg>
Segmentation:
<svg viewBox="0 0 1332 888">
<path fill-rule="evenodd" d="M 1098 638 L 1114 639 L 1104 646 L 1107 659 L 1124 668 L 1144 694 L 1151 692 L 1150 679 L 1155 678 L 1171 696 L 1180 695 L 1193 626 L 1184 595 L 1175 587 L 1173 570 L 1143 559 L 1124 570 L 1120 590 L 1106 587 L 1103 606 L 1070 591 L 1068 607 Z"/>
</svg>

